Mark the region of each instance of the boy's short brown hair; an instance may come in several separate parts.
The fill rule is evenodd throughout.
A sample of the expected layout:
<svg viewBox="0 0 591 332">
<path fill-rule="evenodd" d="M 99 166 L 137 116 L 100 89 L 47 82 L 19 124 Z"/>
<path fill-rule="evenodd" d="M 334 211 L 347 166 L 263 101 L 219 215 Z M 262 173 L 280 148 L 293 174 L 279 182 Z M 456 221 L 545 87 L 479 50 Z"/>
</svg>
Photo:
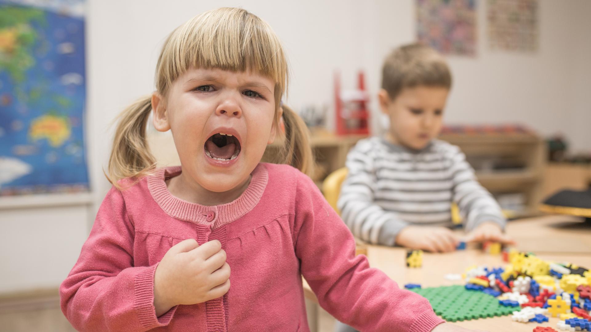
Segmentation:
<svg viewBox="0 0 591 332">
<path fill-rule="evenodd" d="M 396 48 L 384 60 L 382 89 L 394 100 L 402 89 L 419 85 L 451 89 L 452 73 L 441 54 L 423 44 Z"/>
</svg>

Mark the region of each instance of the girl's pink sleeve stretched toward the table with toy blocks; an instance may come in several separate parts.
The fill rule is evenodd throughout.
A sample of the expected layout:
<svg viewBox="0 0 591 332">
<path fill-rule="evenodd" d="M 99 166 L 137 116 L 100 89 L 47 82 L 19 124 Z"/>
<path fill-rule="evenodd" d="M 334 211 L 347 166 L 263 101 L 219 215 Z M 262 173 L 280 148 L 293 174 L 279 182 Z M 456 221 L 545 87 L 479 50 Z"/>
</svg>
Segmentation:
<svg viewBox="0 0 591 332">
<path fill-rule="evenodd" d="M 425 298 L 369 268 L 364 255 L 355 256 L 353 236 L 301 173 L 295 204 L 291 222 L 301 273 L 335 318 L 361 331 L 431 331 L 443 322 Z"/>
</svg>

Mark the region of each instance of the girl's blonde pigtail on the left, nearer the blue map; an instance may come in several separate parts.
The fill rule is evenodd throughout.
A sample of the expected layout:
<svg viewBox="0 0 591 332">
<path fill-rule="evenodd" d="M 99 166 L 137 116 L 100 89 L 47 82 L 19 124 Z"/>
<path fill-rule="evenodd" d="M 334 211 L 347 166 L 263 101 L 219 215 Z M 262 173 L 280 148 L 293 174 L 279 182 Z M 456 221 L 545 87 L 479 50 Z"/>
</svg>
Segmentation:
<svg viewBox="0 0 591 332">
<path fill-rule="evenodd" d="M 146 125 L 152 110 L 151 95 L 129 105 L 119 115 L 119 124 L 109 158 L 109 182 L 121 189 L 117 181 L 148 175 L 156 166 L 146 141 Z"/>
</svg>

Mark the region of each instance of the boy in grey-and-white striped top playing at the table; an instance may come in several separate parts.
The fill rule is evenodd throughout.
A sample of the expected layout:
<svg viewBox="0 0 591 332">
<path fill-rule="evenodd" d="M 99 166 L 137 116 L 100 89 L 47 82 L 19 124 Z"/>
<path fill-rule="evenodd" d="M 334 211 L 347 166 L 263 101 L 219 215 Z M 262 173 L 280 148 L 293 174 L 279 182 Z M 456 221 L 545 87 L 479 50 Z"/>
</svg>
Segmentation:
<svg viewBox="0 0 591 332">
<path fill-rule="evenodd" d="M 384 137 L 363 139 L 349 152 L 349 175 L 337 206 L 353 235 L 371 243 L 450 252 L 456 202 L 466 242 L 512 243 L 491 194 L 476 181 L 465 155 L 436 139 L 452 76 L 432 48 L 410 44 L 385 60 L 379 105 L 389 116 Z"/>
</svg>

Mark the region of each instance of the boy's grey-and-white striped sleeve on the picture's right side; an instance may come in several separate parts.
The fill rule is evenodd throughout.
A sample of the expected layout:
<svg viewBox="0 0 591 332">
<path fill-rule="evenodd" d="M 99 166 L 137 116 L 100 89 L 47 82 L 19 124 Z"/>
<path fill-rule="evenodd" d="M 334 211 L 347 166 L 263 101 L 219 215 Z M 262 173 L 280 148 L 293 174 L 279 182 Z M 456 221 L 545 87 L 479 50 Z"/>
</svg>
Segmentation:
<svg viewBox="0 0 591 332">
<path fill-rule="evenodd" d="M 482 223 L 495 223 L 505 229 L 506 219 L 501 207 L 480 183 L 476 180 L 473 168 L 466 161 L 462 151 L 453 151 L 451 171 L 453 174 L 453 201 L 456 202 L 463 217 L 466 231 L 478 227 Z"/>
</svg>

